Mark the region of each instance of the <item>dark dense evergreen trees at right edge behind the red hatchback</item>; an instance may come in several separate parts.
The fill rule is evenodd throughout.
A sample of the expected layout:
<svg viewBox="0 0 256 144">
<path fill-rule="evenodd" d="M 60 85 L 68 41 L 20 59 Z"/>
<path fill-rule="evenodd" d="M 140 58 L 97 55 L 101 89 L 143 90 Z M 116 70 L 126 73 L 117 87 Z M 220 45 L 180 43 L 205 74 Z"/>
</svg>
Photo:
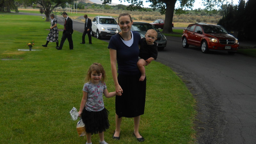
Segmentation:
<svg viewBox="0 0 256 144">
<path fill-rule="evenodd" d="M 238 39 L 255 40 L 256 29 L 256 1 L 240 0 L 238 5 L 222 5 L 222 18 L 217 23 L 228 31 L 238 31 Z"/>
</svg>

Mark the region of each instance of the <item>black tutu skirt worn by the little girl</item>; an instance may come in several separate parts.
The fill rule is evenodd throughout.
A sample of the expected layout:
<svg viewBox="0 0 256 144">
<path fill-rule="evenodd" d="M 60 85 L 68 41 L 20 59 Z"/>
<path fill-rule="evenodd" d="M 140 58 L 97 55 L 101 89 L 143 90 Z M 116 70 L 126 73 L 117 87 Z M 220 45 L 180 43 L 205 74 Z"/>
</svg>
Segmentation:
<svg viewBox="0 0 256 144">
<path fill-rule="evenodd" d="M 106 132 L 110 126 L 108 121 L 108 114 L 109 111 L 106 108 L 98 112 L 87 111 L 84 108 L 81 117 L 85 124 L 86 132 L 91 134 Z"/>
</svg>

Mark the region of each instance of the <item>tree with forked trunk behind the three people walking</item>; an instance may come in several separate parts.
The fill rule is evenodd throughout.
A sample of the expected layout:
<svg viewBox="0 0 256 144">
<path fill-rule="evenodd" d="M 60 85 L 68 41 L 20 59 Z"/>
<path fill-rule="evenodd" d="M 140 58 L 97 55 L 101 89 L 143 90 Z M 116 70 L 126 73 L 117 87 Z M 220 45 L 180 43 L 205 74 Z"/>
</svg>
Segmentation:
<svg viewBox="0 0 256 144">
<path fill-rule="evenodd" d="M 62 4 L 65 3 L 72 3 L 73 4 L 73 0 L 28 0 L 26 3 L 27 4 L 31 4 L 31 3 L 38 3 L 40 4 L 43 9 L 44 9 L 44 14 L 46 17 L 45 21 L 50 21 L 50 14 L 52 13 L 53 9 L 61 6 Z"/>
</svg>

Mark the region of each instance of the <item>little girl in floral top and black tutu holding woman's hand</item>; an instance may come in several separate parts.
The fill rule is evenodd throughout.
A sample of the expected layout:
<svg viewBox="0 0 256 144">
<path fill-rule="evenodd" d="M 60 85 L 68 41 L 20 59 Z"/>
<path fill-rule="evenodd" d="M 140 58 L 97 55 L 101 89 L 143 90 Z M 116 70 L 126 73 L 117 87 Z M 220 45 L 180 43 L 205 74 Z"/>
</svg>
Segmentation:
<svg viewBox="0 0 256 144">
<path fill-rule="evenodd" d="M 92 134 L 99 133 L 100 144 L 108 144 L 104 141 L 104 132 L 109 128 L 108 110 L 104 107 L 103 97 L 110 98 L 121 95 L 121 91 L 108 92 L 104 82 L 105 70 L 100 63 L 93 63 L 88 70 L 84 84 L 83 98 L 79 109 L 79 117 L 82 116 L 86 129 L 86 144 L 92 144 Z"/>
</svg>

